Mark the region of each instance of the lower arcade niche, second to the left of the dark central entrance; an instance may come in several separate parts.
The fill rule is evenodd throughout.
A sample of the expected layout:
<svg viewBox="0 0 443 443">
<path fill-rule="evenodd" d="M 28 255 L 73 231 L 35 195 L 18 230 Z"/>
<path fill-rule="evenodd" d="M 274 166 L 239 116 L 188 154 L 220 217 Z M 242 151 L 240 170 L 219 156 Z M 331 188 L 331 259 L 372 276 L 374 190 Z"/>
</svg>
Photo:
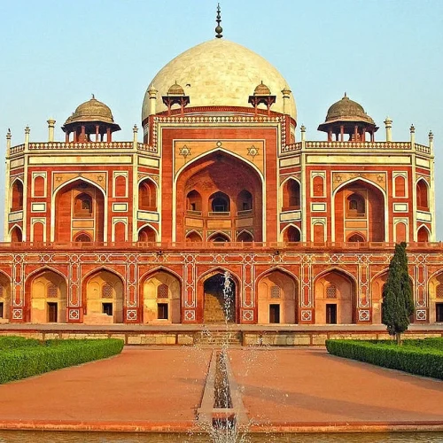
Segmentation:
<svg viewBox="0 0 443 443">
<path fill-rule="evenodd" d="M 82 284 L 83 323 L 123 323 L 123 290 L 120 276 L 100 269 L 87 276 Z"/>
</svg>

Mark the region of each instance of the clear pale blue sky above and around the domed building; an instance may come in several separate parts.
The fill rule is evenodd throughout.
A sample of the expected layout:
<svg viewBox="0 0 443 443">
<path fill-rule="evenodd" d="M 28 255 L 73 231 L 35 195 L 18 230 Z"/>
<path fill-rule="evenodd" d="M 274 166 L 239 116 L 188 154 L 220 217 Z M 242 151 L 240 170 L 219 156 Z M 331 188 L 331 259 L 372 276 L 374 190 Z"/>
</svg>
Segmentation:
<svg viewBox="0 0 443 443">
<path fill-rule="evenodd" d="M 94 93 L 113 110 L 130 140 L 140 125 L 144 92 L 159 69 L 214 38 L 216 2 L 209 0 L 35 0 L 0 4 L 0 156 L 12 144 L 47 140 L 46 120 L 60 126 Z M 225 38 L 267 58 L 295 97 L 308 139 L 328 107 L 348 96 L 394 140 L 435 135 L 438 237 L 443 240 L 443 1 L 222 0 Z M 139 133 L 140 138 L 141 134 Z M 4 194 L 4 174 L 0 194 Z M 3 214 L 3 210 L 0 211 Z"/>
</svg>

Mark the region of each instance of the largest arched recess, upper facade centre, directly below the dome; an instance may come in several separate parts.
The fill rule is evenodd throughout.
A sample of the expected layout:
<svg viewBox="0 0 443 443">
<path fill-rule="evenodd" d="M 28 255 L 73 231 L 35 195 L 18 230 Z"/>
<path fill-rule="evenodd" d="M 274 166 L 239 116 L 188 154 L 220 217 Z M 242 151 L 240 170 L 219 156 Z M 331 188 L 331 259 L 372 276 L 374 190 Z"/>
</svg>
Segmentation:
<svg viewBox="0 0 443 443">
<path fill-rule="evenodd" d="M 176 241 L 183 241 L 196 226 L 202 228 L 204 239 L 228 230 L 235 238 L 236 227 L 241 226 L 253 232 L 255 241 L 262 241 L 261 176 L 244 159 L 222 150 L 209 152 L 183 167 L 175 186 L 175 214 L 187 215 L 177 219 Z"/>
</svg>

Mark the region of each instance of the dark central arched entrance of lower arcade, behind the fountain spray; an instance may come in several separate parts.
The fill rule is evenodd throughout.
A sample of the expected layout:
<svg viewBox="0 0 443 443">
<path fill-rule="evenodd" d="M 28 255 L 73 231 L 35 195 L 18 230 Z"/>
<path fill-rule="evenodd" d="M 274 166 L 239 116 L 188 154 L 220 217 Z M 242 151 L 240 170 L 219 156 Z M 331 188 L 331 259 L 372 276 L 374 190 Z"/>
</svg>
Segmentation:
<svg viewBox="0 0 443 443">
<path fill-rule="evenodd" d="M 223 274 L 208 278 L 204 284 L 205 323 L 236 322 L 236 284 Z"/>
</svg>

